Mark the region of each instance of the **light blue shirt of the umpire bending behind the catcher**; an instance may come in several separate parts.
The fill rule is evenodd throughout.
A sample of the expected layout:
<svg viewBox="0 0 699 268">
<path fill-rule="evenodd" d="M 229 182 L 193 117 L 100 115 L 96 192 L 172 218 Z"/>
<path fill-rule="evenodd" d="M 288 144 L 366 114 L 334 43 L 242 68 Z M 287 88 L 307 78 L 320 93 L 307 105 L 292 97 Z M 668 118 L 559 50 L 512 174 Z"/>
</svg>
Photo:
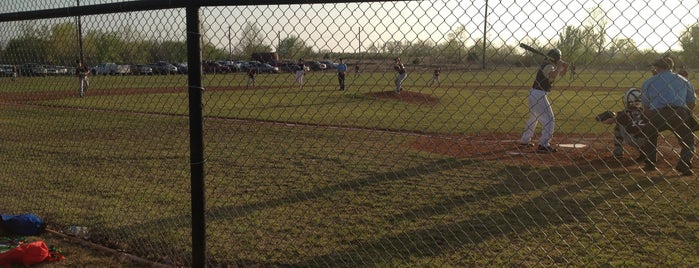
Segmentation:
<svg viewBox="0 0 699 268">
<path fill-rule="evenodd" d="M 641 87 L 643 107 L 655 110 L 666 106 L 685 107 L 694 103 L 697 95 L 694 87 L 684 77 L 671 71 L 662 71 L 646 80 Z"/>
</svg>

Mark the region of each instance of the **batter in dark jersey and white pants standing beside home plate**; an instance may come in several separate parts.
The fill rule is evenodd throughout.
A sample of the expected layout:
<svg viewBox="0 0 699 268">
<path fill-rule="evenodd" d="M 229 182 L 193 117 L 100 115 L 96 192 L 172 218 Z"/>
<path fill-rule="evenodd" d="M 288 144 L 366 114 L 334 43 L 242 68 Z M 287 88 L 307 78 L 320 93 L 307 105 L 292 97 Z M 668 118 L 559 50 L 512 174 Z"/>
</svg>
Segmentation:
<svg viewBox="0 0 699 268">
<path fill-rule="evenodd" d="M 559 76 L 565 76 L 568 71 L 568 64 L 561 60 L 561 51 L 557 48 L 551 49 L 547 53 L 546 61 L 544 61 L 536 72 L 534 84 L 529 90 L 529 120 L 520 139 L 520 145 L 524 147 L 533 147 L 530 143 L 536 125 L 541 123 L 541 138 L 536 151 L 539 153 L 553 153 L 556 148 L 551 147 L 551 138 L 553 138 L 554 117 L 551 102 L 547 94 L 551 91 L 553 83 Z"/>
</svg>

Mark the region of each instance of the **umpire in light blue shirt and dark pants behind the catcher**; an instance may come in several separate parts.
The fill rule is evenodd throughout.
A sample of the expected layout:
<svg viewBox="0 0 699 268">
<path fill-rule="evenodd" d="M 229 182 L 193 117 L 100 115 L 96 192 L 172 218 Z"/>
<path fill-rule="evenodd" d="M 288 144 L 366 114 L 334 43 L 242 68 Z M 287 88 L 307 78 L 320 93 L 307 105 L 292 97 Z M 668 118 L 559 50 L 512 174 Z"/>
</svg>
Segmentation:
<svg viewBox="0 0 699 268">
<path fill-rule="evenodd" d="M 695 145 L 694 133 L 689 125 L 693 119 L 692 110 L 697 95 L 687 79 L 671 71 L 674 65 L 669 57 L 654 61 L 651 64 L 654 75 L 641 88 L 641 102 L 648 117 L 648 124 L 641 130 L 648 139 L 641 146 L 646 157 L 643 170 L 656 170 L 658 135 L 664 130 L 670 130 L 682 147 L 675 169 L 682 176 L 692 176 Z"/>
</svg>

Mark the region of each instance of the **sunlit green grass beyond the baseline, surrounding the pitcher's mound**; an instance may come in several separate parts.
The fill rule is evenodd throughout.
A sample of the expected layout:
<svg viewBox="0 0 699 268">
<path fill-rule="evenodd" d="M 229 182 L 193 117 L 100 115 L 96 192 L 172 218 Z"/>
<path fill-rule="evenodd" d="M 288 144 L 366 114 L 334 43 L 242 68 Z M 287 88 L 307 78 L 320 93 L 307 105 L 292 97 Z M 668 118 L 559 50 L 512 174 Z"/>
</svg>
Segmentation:
<svg viewBox="0 0 699 268">
<path fill-rule="evenodd" d="M 268 90 L 229 90 L 204 93 L 207 116 L 247 120 L 283 121 L 303 124 L 322 124 L 372 129 L 405 130 L 428 133 L 518 132 L 527 116 L 526 95 L 530 82 L 529 69 L 509 72 L 452 73 L 443 77 L 443 86 L 426 87 L 429 74 L 413 73 L 406 81 L 406 90 L 436 97 L 433 106 L 413 105 L 365 96 L 369 92 L 392 90 L 391 73 L 350 75 L 349 90 L 336 90 L 332 72 L 307 75 L 308 86 L 296 88 L 291 74 L 264 74 L 258 84 Z M 601 74 L 600 74 L 601 73 Z M 525 75 L 526 74 L 526 75 Z M 596 75 L 596 76 L 593 76 Z M 602 78 L 600 78 L 600 76 Z M 497 79 L 494 79 L 497 78 Z M 51 90 L 70 90 L 70 78 L 49 78 L 68 87 Z M 210 88 L 245 85 L 244 74 L 206 75 L 204 86 Z M 619 79 L 609 84 L 609 79 Z M 621 109 L 620 96 L 628 87 L 641 81 L 639 73 L 583 72 L 570 81 L 565 78 L 550 94 L 557 117 L 557 132 L 600 133 L 607 127 L 594 123 L 594 116 L 605 110 Z M 70 80 L 70 81 L 67 81 Z M 40 82 L 33 79 L 35 83 Z M 599 84 L 594 84 L 600 82 Z M 489 84 L 492 83 L 492 84 Z M 94 91 L 123 88 L 180 88 L 186 92 L 182 75 L 171 76 L 97 76 L 93 77 Z M 157 85 L 157 86 L 154 86 Z M 45 85 L 45 84 L 44 84 Z M 483 86 L 488 85 L 488 86 Z M 30 84 L 30 88 L 36 88 Z M 603 90 L 597 88 L 604 87 Z M 575 88 L 568 90 L 568 88 Z M 591 88 L 594 90 L 580 90 Z M 186 115 L 187 95 L 132 95 L 87 99 L 63 99 L 47 104 L 119 109 L 135 112 L 156 112 Z M 410 116 L 405 116 L 410 115 Z M 478 122 L 478 124 L 474 124 Z"/>
</svg>

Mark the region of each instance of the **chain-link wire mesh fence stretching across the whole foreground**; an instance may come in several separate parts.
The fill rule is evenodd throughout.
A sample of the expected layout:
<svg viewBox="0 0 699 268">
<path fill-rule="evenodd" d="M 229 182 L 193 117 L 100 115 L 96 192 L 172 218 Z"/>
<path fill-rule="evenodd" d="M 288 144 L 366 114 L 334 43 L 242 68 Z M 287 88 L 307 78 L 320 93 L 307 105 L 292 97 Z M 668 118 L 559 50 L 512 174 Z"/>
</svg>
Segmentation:
<svg viewBox="0 0 699 268">
<path fill-rule="evenodd" d="M 201 1 L 200 54 L 180 2 L 0 4 L 3 213 L 184 267 L 197 245 L 209 267 L 699 265 L 673 133 L 646 171 L 595 120 L 657 58 L 696 84 L 696 1 Z M 549 140 L 522 138 L 546 60 L 519 44 L 569 66 L 557 152 L 520 145 Z"/>
</svg>

